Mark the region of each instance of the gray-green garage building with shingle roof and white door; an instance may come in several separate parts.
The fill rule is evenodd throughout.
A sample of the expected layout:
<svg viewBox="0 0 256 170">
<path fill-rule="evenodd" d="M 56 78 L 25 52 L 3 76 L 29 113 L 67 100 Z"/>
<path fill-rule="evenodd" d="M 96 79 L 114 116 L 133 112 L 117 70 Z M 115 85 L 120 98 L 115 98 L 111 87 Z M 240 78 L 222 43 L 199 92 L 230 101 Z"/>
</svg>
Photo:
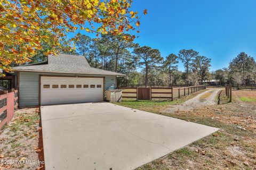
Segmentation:
<svg viewBox="0 0 256 170">
<path fill-rule="evenodd" d="M 125 74 L 95 69 L 81 55 L 50 55 L 46 62 L 13 67 L 19 106 L 103 101 Z"/>
</svg>

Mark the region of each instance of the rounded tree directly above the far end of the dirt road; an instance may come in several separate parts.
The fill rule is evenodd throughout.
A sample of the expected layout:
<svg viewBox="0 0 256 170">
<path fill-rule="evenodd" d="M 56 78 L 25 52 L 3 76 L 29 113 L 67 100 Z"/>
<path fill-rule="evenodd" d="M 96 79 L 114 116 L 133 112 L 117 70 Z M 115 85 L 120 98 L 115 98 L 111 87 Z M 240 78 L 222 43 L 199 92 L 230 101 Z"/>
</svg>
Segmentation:
<svg viewBox="0 0 256 170">
<path fill-rule="evenodd" d="M 205 56 L 196 56 L 191 63 L 192 71 L 198 73 L 199 81 L 202 83 L 209 73 L 209 68 L 211 66 L 211 58 Z"/>
</svg>

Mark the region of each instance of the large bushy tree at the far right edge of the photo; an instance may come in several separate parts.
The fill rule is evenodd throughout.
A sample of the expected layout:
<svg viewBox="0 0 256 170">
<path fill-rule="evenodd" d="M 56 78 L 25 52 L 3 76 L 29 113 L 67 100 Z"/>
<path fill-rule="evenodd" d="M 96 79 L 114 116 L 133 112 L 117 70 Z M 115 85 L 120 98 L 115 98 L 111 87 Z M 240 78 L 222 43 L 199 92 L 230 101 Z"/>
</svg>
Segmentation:
<svg viewBox="0 0 256 170">
<path fill-rule="evenodd" d="M 244 80 L 250 83 L 253 71 L 256 69 L 256 63 L 253 57 L 242 52 L 229 63 L 229 69 L 231 76 L 236 72 L 240 72 Z"/>
</svg>

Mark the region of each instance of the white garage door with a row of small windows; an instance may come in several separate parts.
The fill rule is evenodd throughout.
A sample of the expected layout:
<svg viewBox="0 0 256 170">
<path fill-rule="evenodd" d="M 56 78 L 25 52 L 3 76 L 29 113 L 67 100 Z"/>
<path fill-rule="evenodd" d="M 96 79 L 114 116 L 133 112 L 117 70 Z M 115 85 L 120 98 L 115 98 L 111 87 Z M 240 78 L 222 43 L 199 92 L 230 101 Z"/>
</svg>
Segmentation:
<svg viewBox="0 0 256 170">
<path fill-rule="evenodd" d="M 103 78 L 41 77 L 41 105 L 103 101 Z"/>
</svg>

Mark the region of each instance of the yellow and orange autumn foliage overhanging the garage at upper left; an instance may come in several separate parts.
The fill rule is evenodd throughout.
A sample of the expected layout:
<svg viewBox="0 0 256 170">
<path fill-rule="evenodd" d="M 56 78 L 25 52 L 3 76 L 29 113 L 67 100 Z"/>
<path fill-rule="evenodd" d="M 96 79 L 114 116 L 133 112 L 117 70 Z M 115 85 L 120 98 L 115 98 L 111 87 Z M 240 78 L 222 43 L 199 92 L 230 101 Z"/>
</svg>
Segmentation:
<svg viewBox="0 0 256 170">
<path fill-rule="evenodd" d="M 51 47 L 44 55 L 57 54 L 60 39 L 77 29 L 118 35 L 136 29 L 140 22 L 131 11 L 132 0 L 57 1 L 3 0 L 0 3 L 0 69 L 30 61 L 42 42 Z M 144 11 L 147 14 L 147 11 Z M 46 34 L 45 34 L 46 33 Z M 135 36 L 124 36 L 132 40 Z M 65 49 L 67 47 L 67 49 Z M 18 48 L 18 50 L 17 50 Z"/>
</svg>

